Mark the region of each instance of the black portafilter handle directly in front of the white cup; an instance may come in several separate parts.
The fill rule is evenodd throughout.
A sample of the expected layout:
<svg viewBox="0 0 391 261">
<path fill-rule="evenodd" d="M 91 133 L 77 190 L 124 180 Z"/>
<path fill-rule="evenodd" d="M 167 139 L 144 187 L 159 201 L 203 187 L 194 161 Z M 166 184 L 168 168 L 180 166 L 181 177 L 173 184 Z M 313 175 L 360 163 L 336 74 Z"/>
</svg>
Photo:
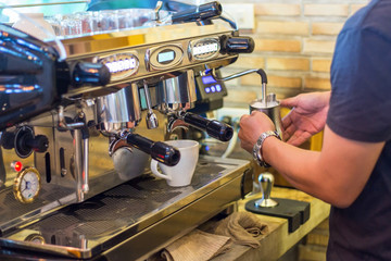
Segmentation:
<svg viewBox="0 0 391 261">
<path fill-rule="evenodd" d="M 173 146 L 161 141 L 153 141 L 138 134 L 128 134 L 126 136 L 128 145 L 150 154 L 152 159 L 162 162 L 165 165 L 174 166 L 180 160 L 180 152 Z"/>
</svg>

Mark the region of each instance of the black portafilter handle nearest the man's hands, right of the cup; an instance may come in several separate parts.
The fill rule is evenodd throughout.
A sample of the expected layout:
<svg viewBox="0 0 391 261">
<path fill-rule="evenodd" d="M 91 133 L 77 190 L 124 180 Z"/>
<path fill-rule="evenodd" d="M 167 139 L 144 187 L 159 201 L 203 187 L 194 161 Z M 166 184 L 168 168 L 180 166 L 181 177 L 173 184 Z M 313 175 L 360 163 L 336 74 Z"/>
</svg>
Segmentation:
<svg viewBox="0 0 391 261">
<path fill-rule="evenodd" d="M 186 114 L 181 116 L 181 120 L 198 129 L 206 132 L 211 137 L 222 141 L 230 140 L 234 135 L 234 128 L 228 124 L 216 120 L 207 120 L 194 113 L 186 112 Z"/>
</svg>

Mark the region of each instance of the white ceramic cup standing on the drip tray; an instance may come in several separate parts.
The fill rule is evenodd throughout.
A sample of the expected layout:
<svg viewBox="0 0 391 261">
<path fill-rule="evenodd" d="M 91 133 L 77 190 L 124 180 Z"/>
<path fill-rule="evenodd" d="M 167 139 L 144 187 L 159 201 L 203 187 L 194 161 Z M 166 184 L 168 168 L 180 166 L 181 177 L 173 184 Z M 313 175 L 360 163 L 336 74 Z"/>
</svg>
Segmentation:
<svg viewBox="0 0 391 261">
<path fill-rule="evenodd" d="M 155 160 L 151 160 L 152 174 L 167 181 L 168 186 L 184 187 L 191 183 L 199 158 L 199 142 L 190 139 L 178 139 L 164 141 L 177 148 L 180 160 L 174 166 L 167 166 Z M 157 165 L 163 173 L 157 170 Z"/>
</svg>

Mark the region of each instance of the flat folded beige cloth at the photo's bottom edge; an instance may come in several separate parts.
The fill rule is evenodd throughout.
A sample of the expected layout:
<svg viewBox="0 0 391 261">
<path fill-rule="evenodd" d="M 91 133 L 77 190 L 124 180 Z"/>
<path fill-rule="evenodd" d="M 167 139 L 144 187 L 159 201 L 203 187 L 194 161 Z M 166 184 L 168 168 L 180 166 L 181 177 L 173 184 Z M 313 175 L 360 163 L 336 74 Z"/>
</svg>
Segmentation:
<svg viewBox="0 0 391 261">
<path fill-rule="evenodd" d="M 227 236 L 194 229 L 167 246 L 161 256 L 167 261 L 206 261 L 226 252 L 231 244 Z"/>
</svg>

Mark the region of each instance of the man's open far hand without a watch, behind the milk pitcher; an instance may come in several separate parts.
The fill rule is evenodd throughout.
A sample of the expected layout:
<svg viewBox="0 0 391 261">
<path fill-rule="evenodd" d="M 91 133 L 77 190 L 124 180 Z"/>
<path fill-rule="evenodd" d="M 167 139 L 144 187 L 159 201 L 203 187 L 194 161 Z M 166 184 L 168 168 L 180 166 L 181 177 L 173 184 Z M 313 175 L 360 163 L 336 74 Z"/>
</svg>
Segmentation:
<svg viewBox="0 0 391 261">
<path fill-rule="evenodd" d="M 282 119 L 283 138 L 299 146 L 323 130 L 329 109 L 330 91 L 302 94 L 281 101 L 281 107 L 292 109 Z"/>
</svg>

